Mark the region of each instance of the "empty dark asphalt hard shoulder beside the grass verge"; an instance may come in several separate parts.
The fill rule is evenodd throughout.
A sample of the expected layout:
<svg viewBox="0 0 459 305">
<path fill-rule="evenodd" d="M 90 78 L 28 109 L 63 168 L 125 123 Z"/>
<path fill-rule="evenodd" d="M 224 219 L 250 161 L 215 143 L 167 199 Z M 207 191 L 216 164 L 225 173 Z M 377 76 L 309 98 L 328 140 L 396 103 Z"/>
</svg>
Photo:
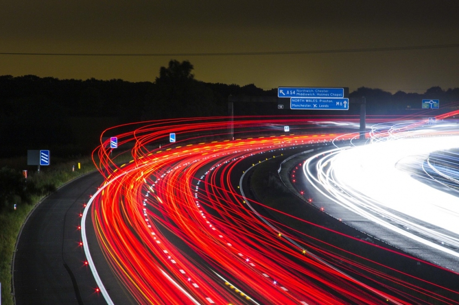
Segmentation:
<svg viewBox="0 0 459 305">
<path fill-rule="evenodd" d="M 73 180 L 45 198 L 31 213 L 13 262 L 16 305 L 106 304 L 85 265 L 78 229 L 83 205 L 102 182 L 99 172 Z M 89 243 L 96 241 L 89 238 Z M 130 304 L 111 271 L 103 265 L 98 267 L 117 292 L 112 293 L 112 299 L 117 304 Z"/>
</svg>

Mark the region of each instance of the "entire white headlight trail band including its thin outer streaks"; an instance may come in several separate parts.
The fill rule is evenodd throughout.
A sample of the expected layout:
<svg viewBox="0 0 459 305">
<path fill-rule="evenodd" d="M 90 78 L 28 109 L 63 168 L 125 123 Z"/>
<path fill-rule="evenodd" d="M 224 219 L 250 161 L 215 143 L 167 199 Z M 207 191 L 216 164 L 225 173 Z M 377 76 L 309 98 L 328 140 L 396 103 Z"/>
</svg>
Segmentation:
<svg viewBox="0 0 459 305">
<path fill-rule="evenodd" d="M 459 147 L 459 137 L 420 138 L 419 130 L 410 132 L 406 125 L 393 126 L 386 137 L 377 129 L 373 133 L 377 137 L 370 145 L 325 156 L 321 152 L 306 160 L 303 170 L 309 182 L 341 206 L 459 258 L 451 249 L 459 248 L 459 197 L 415 179 L 429 153 Z M 451 170 L 448 176 L 454 181 L 451 176 L 457 173 Z"/>
</svg>

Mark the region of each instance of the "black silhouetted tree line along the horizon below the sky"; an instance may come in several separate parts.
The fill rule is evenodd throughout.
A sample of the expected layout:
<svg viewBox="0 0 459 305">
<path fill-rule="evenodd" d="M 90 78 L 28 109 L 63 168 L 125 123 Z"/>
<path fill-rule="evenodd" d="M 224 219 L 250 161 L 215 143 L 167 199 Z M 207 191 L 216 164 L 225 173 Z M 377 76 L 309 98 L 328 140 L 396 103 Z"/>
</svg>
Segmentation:
<svg viewBox="0 0 459 305">
<path fill-rule="evenodd" d="M 0 76 L 0 156 L 23 155 L 27 149 L 51 149 L 54 155 L 87 153 L 97 145 L 100 133 L 111 126 L 142 120 L 225 116 L 230 95 L 277 96 L 276 89 L 265 91 L 253 84 L 198 81 L 192 71 L 189 61 L 171 60 L 167 67 L 160 68 L 155 82 Z M 350 94 L 361 96 L 367 98 L 368 114 L 386 115 L 420 108 L 424 98 L 440 99 L 441 105 L 459 101 L 459 88 L 444 91 L 433 87 L 424 94 L 391 94 L 362 87 Z"/>
</svg>

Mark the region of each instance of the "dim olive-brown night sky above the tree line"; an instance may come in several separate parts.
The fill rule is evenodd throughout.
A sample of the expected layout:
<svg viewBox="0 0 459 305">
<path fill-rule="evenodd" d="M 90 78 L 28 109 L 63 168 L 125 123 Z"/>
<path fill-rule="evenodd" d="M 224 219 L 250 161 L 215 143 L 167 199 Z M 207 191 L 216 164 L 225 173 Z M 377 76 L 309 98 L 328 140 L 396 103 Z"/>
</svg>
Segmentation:
<svg viewBox="0 0 459 305">
<path fill-rule="evenodd" d="M 0 75 L 154 81 L 177 59 L 189 60 L 198 80 L 264 89 L 459 87 L 457 0 L 0 0 L 0 7 Z M 399 47 L 408 49 L 379 50 Z M 348 49 L 363 52 L 336 51 Z"/>
</svg>

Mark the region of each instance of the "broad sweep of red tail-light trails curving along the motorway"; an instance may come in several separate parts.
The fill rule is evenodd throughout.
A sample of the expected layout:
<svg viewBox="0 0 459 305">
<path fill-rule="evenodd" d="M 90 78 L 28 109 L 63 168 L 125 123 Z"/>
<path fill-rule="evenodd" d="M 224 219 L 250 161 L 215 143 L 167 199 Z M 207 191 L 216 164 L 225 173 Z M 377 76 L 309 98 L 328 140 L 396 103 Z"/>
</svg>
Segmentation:
<svg viewBox="0 0 459 305">
<path fill-rule="evenodd" d="M 241 194 L 241 168 L 255 165 L 249 157 L 262 162 L 358 133 L 313 134 L 319 119 L 236 119 L 235 140 L 226 139 L 227 118 L 118 127 L 130 130 L 117 134 L 116 152 L 125 148 L 132 157 L 122 165 L 121 153 L 101 137 L 94 159 L 106 182 L 83 219 L 86 213 L 92 218 L 105 259 L 139 304 L 427 304 L 410 291 L 459 304 L 434 293 L 434 284 L 426 290 L 399 279 L 397 270 L 369 267 L 375 262 L 342 249 L 326 250 L 319 239 L 290 234 L 286 224 L 267 223 L 248 207 L 263 206 Z M 291 126 L 288 134 L 279 129 L 284 124 Z M 169 133 L 176 143 L 164 141 Z"/>
</svg>

